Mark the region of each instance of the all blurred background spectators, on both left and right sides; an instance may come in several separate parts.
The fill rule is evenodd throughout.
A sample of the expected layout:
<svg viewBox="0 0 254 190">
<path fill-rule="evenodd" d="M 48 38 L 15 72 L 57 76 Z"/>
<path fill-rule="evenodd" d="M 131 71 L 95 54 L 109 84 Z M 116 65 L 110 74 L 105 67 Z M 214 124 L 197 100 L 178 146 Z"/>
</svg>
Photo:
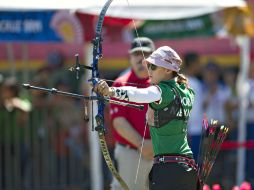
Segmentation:
<svg viewBox="0 0 254 190">
<path fill-rule="evenodd" d="M 229 126 L 227 140 L 237 141 L 239 96 L 236 80 L 239 68 L 222 68 L 214 60 L 203 64 L 195 52 L 186 53 L 183 58 L 182 72 L 196 92 L 189 141 L 198 160 L 204 113 L 208 119 L 217 119 Z M 75 75 L 67 71 L 64 61 L 61 54 L 50 54 L 45 67 L 32 77 L 31 84 L 80 92 L 80 84 L 73 82 Z M 21 90 L 21 83 L 15 77 L 0 75 L 0 83 L 0 189 L 36 189 L 37 186 L 53 189 L 59 185 L 66 187 L 63 189 L 89 189 L 87 131 L 90 129 L 83 120 L 83 102 L 42 91 Z M 249 69 L 248 87 L 249 92 L 254 91 L 254 63 Z M 253 93 L 248 94 L 246 119 L 247 141 L 251 141 L 254 140 Z M 247 149 L 245 179 L 252 185 L 253 149 Z M 218 183 L 221 189 L 231 189 L 235 185 L 236 150 L 220 152 L 208 184 Z M 106 172 L 105 175 L 106 183 L 110 182 L 110 174 Z M 15 183 L 9 178 L 15 179 Z M 75 186 L 77 183 L 78 187 Z"/>
</svg>

